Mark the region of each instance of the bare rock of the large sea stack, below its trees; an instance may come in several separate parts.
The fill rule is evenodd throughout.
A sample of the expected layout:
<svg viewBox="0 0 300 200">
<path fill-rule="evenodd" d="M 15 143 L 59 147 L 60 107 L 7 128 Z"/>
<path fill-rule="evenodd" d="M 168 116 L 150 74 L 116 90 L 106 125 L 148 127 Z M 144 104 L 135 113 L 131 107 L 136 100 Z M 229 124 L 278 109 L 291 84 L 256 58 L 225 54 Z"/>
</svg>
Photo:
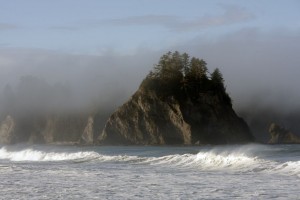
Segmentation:
<svg viewBox="0 0 300 200">
<path fill-rule="evenodd" d="M 214 92 L 160 98 L 142 85 L 111 115 L 98 142 L 161 145 L 253 141 L 247 124 L 225 99 Z"/>
</svg>

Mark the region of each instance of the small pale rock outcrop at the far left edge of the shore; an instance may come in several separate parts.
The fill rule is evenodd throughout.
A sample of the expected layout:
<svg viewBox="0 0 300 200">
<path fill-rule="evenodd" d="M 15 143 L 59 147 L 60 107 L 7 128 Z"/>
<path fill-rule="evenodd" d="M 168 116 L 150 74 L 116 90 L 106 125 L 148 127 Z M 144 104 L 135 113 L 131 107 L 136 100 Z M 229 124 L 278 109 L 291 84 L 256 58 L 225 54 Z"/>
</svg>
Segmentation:
<svg viewBox="0 0 300 200">
<path fill-rule="evenodd" d="M 15 121 L 8 115 L 0 126 L 0 144 L 11 144 L 14 140 Z"/>
</svg>

